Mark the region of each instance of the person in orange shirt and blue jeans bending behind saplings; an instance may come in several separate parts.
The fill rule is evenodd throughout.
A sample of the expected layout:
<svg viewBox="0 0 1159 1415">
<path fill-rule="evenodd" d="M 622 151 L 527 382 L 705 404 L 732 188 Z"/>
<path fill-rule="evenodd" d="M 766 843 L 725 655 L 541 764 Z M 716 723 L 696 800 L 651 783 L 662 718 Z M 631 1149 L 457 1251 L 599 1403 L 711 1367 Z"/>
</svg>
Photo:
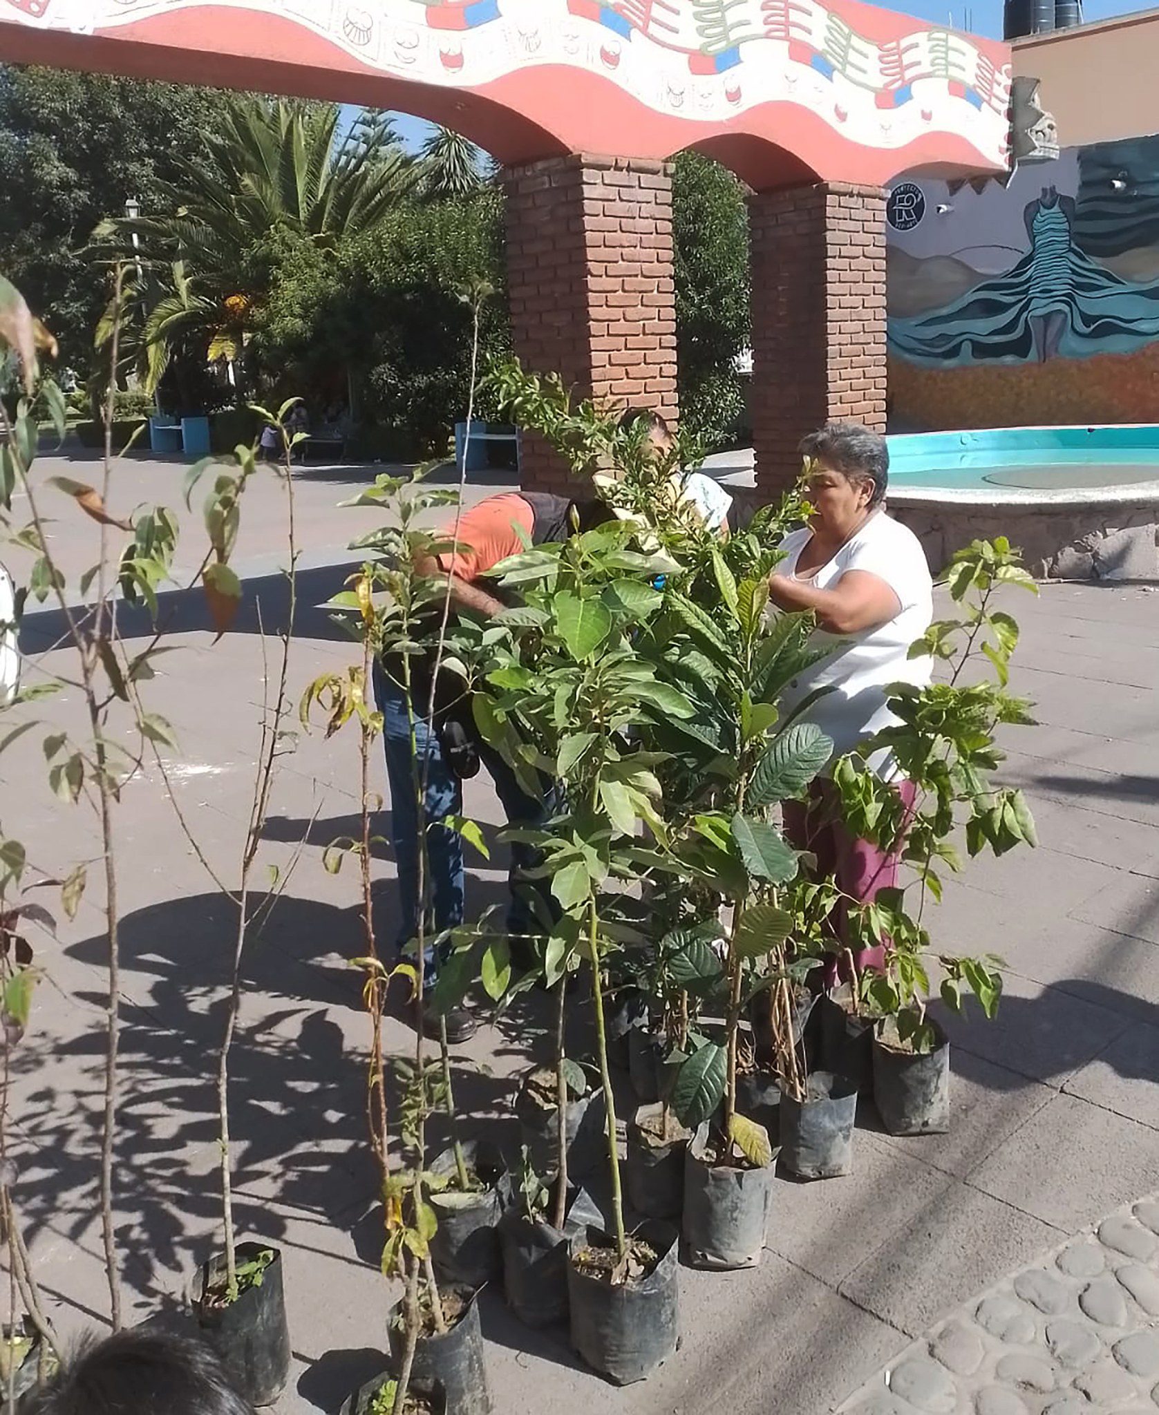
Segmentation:
<svg viewBox="0 0 1159 1415">
<path fill-rule="evenodd" d="M 508 556 L 519 555 L 526 539 L 532 545 L 566 541 L 572 535 L 573 509 L 584 529 L 611 515 L 599 501 L 575 502 L 569 497 L 545 492 L 511 491 L 487 497 L 460 515 L 457 532 L 453 522 L 444 528 L 447 539 L 454 536 L 456 549 L 416 562 L 416 570 L 422 574 L 446 576 L 454 608 L 477 618 L 490 618 L 507 607 L 498 596 L 498 587 L 488 579 L 490 572 Z M 481 761 L 495 784 L 511 825 L 542 825 L 555 811 L 556 798 L 549 782 L 545 782 L 542 801 L 526 795 L 502 757 L 478 740 L 470 722 L 470 705 L 463 702 L 461 679 L 443 681 L 444 675 L 440 675 L 433 695 L 432 730 L 426 717 L 427 703 L 432 700 L 433 664 L 415 658 L 410 664 L 412 699 L 419 719 L 415 723 L 415 750 L 419 756 L 420 780 L 425 775 L 427 782 L 427 866 L 433 913 L 429 925 L 434 932 L 442 932 L 461 924 L 464 918 L 463 841 L 454 831 L 437 824 L 449 815 L 463 814 L 463 778 L 474 775 Z M 375 665 L 375 698 L 384 717 L 391 836 L 402 906 L 398 945 L 402 949 L 417 932 L 419 812 L 412 775 L 415 757 L 410 712 L 402 688 L 400 664 L 388 659 Z M 456 709 L 449 713 L 447 705 L 456 700 Z M 531 937 L 542 932 L 528 901 L 528 891 L 538 889 L 538 882 L 526 877 L 526 870 L 535 862 L 535 852 L 529 846 L 512 843 L 507 930 L 517 951 L 519 941 L 525 941 L 526 947 Z M 542 893 L 541 897 L 548 899 Z M 429 949 L 425 968 L 432 981 L 437 965 L 436 952 Z M 475 1030 L 474 1017 L 467 1007 L 449 1010 L 444 1022 L 447 1040 L 451 1043 L 466 1041 Z M 427 1013 L 425 1026 L 437 1034 L 439 1017 Z"/>
</svg>

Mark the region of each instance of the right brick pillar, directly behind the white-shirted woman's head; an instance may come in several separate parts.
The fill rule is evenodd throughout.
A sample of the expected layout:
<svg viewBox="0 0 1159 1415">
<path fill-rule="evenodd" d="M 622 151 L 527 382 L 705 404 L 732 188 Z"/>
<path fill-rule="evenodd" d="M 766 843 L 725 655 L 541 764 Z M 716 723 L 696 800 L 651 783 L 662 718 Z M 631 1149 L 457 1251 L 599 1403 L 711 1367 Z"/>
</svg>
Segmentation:
<svg viewBox="0 0 1159 1415">
<path fill-rule="evenodd" d="M 879 187 L 750 198 L 757 499 L 792 485 L 829 417 L 886 430 L 886 224 Z"/>
</svg>

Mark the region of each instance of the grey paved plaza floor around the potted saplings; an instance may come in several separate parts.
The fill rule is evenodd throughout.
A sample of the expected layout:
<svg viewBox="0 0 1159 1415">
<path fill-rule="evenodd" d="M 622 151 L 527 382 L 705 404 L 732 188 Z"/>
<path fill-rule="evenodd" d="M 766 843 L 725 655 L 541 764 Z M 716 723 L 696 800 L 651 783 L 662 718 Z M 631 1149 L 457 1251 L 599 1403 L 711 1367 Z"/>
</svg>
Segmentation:
<svg viewBox="0 0 1159 1415">
<path fill-rule="evenodd" d="M 42 471 L 85 477 L 64 461 Z M 95 470 L 95 468 L 93 468 Z M 374 514 L 335 511 L 372 468 L 309 470 L 297 488 L 307 607 L 292 664 L 294 698 L 351 648 L 313 606 L 340 587 L 350 536 Z M 178 499 L 183 468 L 117 471 L 116 509 Z M 485 494 L 491 487 L 475 488 Z M 279 516 L 272 487 L 246 507 L 239 569 L 276 618 Z M 95 528 L 58 511 L 62 558 L 91 563 Z M 83 543 L 88 538 L 89 543 Z M 200 559 L 200 556 L 198 556 Z M 184 562 L 183 562 L 184 563 Z M 195 565 L 197 559 L 191 559 Z M 175 601 L 177 603 L 177 601 Z M 177 794 L 214 866 L 236 870 L 250 798 L 260 654 L 249 603 L 218 644 L 197 603 L 180 603 L 173 642 L 147 686 L 181 747 Z M 778 1182 L 759 1269 L 684 1271 L 684 1347 L 652 1380 L 614 1390 L 583 1370 L 559 1332 L 531 1333 L 501 1298 L 483 1302 L 495 1408 L 532 1415 L 692 1412 L 814 1415 L 839 1405 L 933 1323 L 974 1295 L 1149 1193 L 1159 1174 L 1159 600 L 1132 587 L 1051 584 L 1017 596 L 1013 683 L 1040 724 L 1010 734 L 1008 777 L 1039 818 L 1042 848 L 975 865 L 947 886 L 934 934 L 948 949 L 1009 962 L 995 1024 L 951 1023 L 954 1116 L 947 1136 L 893 1139 L 859 1122 L 856 1173 Z M 51 611 L 30 642 L 50 644 Z M 37 705 L 42 732 L 78 722 L 65 693 Z M 38 739 L 0 757 L 3 825 L 61 874 L 95 853 L 95 822 L 45 782 Z M 385 792 L 379 771 L 376 788 Z M 296 1371 L 280 1412 L 335 1411 L 381 1367 L 392 1295 L 378 1275 L 375 1177 L 364 1142 L 367 1024 L 358 978 L 354 873 L 321 852 L 357 812 L 357 744 L 301 736 L 282 763 L 263 862 L 301 862 L 246 964 L 233 1058 L 242 1225 L 284 1251 Z M 498 824 L 484 778 L 467 812 Z M 310 824 L 313 821 L 313 824 Z M 194 859 L 153 773 L 116 816 L 123 925 L 123 1101 L 117 1237 L 132 1315 L 175 1300 L 212 1247 L 217 1217 L 214 1049 L 231 948 L 229 908 Z M 59 940 L 38 941 L 48 981 L 35 999 L 13 1087 L 18 1200 L 38 1274 L 64 1327 L 108 1310 L 96 1217 L 103 937 L 100 893 Z M 392 867 L 376 862 L 389 928 Z M 226 873 L 226 877 L 231 877 Z M 504 866 L 471 869 L 471 903 L 501 897 Z M 576 1039 L 583 1019 L 576 1019 Z M 410 1034 L 391 1024 L 392 1049 Z M 460 1099 L 473 1124 L 509 1132 L 512 1077 L 546 1053 L 535 1009 L 463 1049 Z"/>
</svg>

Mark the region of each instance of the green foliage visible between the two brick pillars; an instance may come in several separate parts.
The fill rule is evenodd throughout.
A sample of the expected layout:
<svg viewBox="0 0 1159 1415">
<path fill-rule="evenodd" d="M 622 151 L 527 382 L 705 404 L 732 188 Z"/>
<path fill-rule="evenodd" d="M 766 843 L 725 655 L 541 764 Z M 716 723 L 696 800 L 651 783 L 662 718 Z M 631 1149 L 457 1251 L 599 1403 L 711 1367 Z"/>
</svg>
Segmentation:
<svg viewBox="0 0 1159 1415">
<path fill-rule="evenodd" d="M 719 163 L 681 153 L 672 222 L 681 420 L 719 447 L 744 410 L 736 359 L 753 330 L 744 187 Z"/>
</svg>

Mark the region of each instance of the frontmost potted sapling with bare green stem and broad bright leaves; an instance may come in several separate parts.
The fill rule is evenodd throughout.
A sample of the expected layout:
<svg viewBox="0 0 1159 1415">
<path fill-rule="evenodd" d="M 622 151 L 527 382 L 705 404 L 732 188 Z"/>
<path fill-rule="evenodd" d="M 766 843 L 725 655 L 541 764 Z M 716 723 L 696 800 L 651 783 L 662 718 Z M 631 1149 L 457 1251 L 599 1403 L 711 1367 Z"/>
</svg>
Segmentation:
<svg viewBox="0 0 1159 1415">
<path fill-rule="evenodd" d="M 678 1307 L 675 1231 L 651 1223 L 630 1232 L 624 1224 L 604 1012 L 606 959 L 616 947 L 611 896 L 640 876 L 641 822 L 665 833 L 654 758 L 631 734 L 658 715 L 692 710 L 637 654 L 661 596 L 633 576 L 672 566 L 631 550 L 633 535 L 613 521 L 497 569 L 519 583 L 525 608 L 490 647 L 488 691 L 474 702 L 484 739 L 514 770 L 526 764 L 529 747 L 563 788 L 563 808 L 531 843 L 570 921 L 565 949 L 590 969 L 613 1218 L 611 1231 L 593 1225 L 572 1241 L 570 1333 L 580 1356 L 618 1384 L 644 1378 L 671 1356 Z"/>
</svg>

